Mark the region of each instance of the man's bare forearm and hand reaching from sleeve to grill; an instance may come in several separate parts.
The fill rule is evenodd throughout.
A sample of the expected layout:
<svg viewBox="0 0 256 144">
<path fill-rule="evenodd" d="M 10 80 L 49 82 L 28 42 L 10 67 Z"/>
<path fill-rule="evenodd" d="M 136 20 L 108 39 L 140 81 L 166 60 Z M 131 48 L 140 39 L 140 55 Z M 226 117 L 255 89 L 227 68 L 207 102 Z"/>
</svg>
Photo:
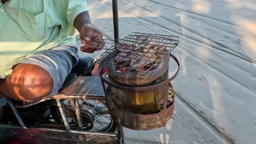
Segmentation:
<svg viewBox="0 0 256 144">
<path fill-rule="evenodd" d="M 80 47 L 81 51 L 93 53 L 101 50 L 105 45 L 101 32 L 91 25 L 88 11 L 84 11 L 75 17 L 74 27 L 79 31 L 80 39 L 84 44 Z"/>
</svg>

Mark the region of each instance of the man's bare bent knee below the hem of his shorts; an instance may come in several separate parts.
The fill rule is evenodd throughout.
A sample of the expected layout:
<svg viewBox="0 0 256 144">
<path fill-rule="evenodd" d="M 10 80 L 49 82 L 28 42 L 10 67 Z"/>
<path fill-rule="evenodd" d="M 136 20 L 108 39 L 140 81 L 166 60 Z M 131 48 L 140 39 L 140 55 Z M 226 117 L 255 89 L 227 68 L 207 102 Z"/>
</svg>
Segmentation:
<svg viewBox="0 0 256 144">
<path fill-rule="evenodd" d="M 46 97 L 53 89 L 53 77 L 34 64 L 19 64 L 6 81 L 9 97 L 16 100 L 35 100 Z"/>
</svg>

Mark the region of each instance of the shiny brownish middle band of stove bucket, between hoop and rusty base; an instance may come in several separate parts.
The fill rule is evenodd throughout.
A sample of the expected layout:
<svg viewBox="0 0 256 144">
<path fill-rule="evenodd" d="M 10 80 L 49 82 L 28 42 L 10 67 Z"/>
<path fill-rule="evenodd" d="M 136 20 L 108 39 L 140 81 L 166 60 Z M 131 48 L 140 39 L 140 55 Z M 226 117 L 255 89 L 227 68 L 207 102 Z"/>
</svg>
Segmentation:
<svg viewBox="0 0 256 144">
<path fill-rule="evenodd" d="M 111 78 L 109 78 L 110 81 Z M 112 94 L 108 98 L 112 99 L 118 109 L 132 113 L 155 113 L 164 109 L 164 101 L 167 101 L 168 83 L 155 86 L 144 91 L 126 91 L 110 86 Z"/>
</svg>

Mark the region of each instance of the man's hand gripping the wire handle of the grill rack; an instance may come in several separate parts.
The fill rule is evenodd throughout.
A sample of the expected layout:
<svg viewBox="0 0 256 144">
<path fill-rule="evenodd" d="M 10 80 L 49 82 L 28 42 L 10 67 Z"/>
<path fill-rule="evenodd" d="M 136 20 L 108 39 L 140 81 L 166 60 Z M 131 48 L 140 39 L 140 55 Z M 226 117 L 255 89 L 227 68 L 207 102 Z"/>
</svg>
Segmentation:
<svg viewBox="0 0 256 144">
<path fill-rule="evenodd" d="M 80 31 L 80 39 L 84 46 L 79 47 L 83 52 L 94 53 L 105 45 L 103 35 L 90 23 L 85 24 Z"/>
</svg>

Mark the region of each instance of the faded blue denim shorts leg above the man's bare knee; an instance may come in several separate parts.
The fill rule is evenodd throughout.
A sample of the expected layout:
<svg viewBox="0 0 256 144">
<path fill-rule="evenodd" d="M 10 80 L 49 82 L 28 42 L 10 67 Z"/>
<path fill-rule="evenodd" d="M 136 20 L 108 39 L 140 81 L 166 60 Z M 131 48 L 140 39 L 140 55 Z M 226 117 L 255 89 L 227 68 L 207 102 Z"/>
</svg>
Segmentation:
<svg viewBox="0 0 256 144">
<path fill-rule="evenodd" d="M 72 68 L 78 63 L 78 47 L 64 45 L 44 50 L 27 57 L 19 63 L 36 64 L 47 70 L 53 77 L 54 87 L 50 95 L 58 93 Z"/>
</svg>

